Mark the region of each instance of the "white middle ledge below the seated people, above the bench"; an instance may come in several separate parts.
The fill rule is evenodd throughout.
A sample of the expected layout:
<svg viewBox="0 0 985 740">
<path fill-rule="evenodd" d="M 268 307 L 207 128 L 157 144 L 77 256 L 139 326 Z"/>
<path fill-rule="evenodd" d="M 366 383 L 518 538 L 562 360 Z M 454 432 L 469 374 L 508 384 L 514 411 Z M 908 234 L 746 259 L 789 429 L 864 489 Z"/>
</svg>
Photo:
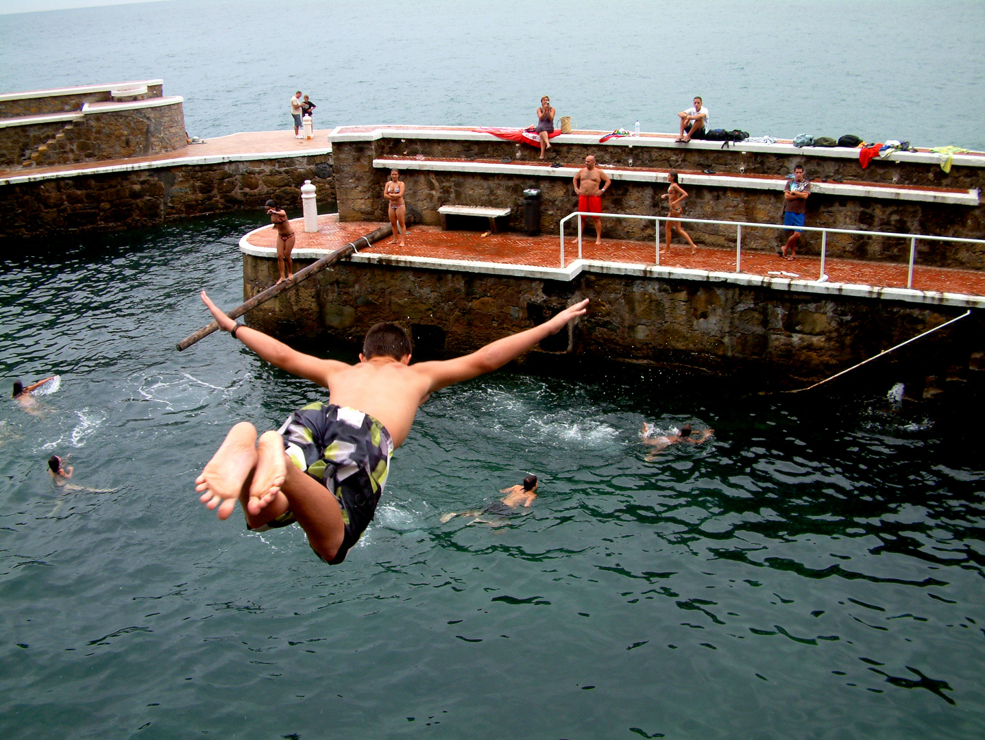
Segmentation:
<svg viewBox="0 0 985 740">
<path fill-rule="evenodd" d="M 331 139 L 331 137 L 329 137 Z M 514 164 L 512 162 L 460 161 L 455 159 L 373 159 L 377 169 L 423 170 L 432 172 L 466 172 L 471 174 L 507 174 L 524 177 L 556 177 L 571 179 L 578 167 L 547 167 L 541 164 Z M 667 172 L 653 169 L 618 169 L 600 162 L 613 180 L 625 182 L 667 182 Z M 786 179 L 782 177 L 739 177 L 728 174 L 680 174 L 682 185 L 700 185 L 711 188 L 739 188 L 743 190 L 774 190 L 782 192 Z M 948 190 L 945 188 L 897 188 L 889 185 L 852 185 L 837 182 L 811 181 L 811 192 L 825 195 L 876 198 L 893 201 L 922 201 L 948 203 L 960 206 L 977 206 L 979 192 L 973 190 Z"/>
</svg>

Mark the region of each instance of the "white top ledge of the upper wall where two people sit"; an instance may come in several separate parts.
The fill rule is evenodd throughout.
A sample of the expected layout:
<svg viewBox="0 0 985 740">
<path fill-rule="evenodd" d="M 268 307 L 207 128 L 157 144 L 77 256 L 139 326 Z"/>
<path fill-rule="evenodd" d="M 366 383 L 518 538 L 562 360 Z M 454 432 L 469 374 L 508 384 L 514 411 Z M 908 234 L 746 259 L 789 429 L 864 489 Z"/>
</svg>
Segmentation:
<svg viewBox="0 0 985 740">
<path fill-rule="evenodd" d="M 499 139 L 493 134 L 474 131 L 474 128 L 490 127 L 448 127 L 448 126 L 339 126 L 329 134 L 330 142 L 372 142 L 377 139 L 432 139 L 445 141 L 474 141 L 500 142 L 513 144 L 505 139 Z M 504 127 L 506 128 L 506 127 Z M 519 128 L 519 127 L 510 127 Z M 706 142 L 692 140 L 689 144 L 676 144 L 676 134 L 643 133 L 638 137 L 626 136 L 610 139 L 604 144 L 599 139 L 610 132 L 579 132 L 577 134 L 560 134 L 553 138 L 557 144 L 583 144 L 592 147 L 652 147 L 657 149 L 675 149 L 679 151 L 718 151 L 723 149 L 724 142 Z M 525 145 L 524 145 L 525 146 Z M 755 152 L 759 154 L 797 154 L 804 157 L 840 158 L 858 160 L 859 151 L 849 147 L 795 147 L 789 141 L 777 141 L 775 144 L 755 144 L 752 142 L 734 142 L 729 149 L 737 152 Z M 881 159 L 891 161 L 915 162 L 920 164 L 939 164 L 943 154 L 931 152 L 895 152 Z M 954 154 L 952 164 L 964 167 L 985 167 L 985 153 Z"/>
</svg>

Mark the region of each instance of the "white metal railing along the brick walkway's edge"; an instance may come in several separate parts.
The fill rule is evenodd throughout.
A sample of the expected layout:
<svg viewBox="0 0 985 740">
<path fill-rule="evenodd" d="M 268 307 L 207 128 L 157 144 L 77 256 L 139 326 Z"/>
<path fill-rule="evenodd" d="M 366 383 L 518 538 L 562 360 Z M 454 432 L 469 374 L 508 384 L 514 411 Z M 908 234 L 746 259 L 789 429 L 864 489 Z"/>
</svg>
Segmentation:
<svg viewBox="0 0 985 740">
<path fill-rule="evenodd" d="M 906 287 L 913 287 L 913 265 L 917 254 L 917 239 L 921 241 L 950 241 L 962 244 L 985 244 L 985 239 L 965 239 L 958 236 L 931 236 L 928 234 L 900 234 L 893 231 L 863 231 L 854 228 L 827 228 L 822 226 L 786 226 L 782 223 L 758 223 L 755 221 L 720 221 L 711 218 L 684 218 L 668 216 L 636 216 L 634 214 L 591 214 L 584 211 L 575 211 L 560 219 L 560 267 L 564 268 L 564 223 L 575 216 L 591 216 L 593 218 L 637 218 L 642 220 L 654 221 L 656 230 L 656 245 L 654 250 L 654 264 L 660 267 L 660 223 L 661 221 L 686 221 L 688 223 L 708 223 L 712 225 L 735 226 L 736 227 L 736 272 L 742 272 L 742 228 L 748 226 L 752 228 L 767 228 L 779 231 L 820 231 L 821 232 L 821 274 L 818 281 L 827 279 L 824 275 L 824 261 L 827 257 L 827 235 L 828 234 L 854 234 L 858 236 L 882 236 L 896 239 L 910 240 L 910 261 L 907 271 Z M 582 223 L 584 219 L 578 218 L 578 259 L 581 258 L 581 238 Z"/>
</svg>

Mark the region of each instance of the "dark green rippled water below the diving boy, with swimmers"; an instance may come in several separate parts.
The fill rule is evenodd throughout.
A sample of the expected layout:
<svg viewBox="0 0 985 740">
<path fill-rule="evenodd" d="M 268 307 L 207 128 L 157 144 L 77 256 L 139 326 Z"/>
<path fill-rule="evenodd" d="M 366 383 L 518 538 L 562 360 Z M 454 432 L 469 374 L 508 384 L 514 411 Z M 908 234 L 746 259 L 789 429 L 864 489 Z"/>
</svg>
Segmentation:
<svg viewBox="0 0 985 740">
<path fill-rule="evenodd" d="M 0 735 L 976 738 L 974 440 L 886 394 L 742 399 L 727 379 L 504 371 L 436 394 L 361 544 L 221 523 L 193 479 L 230 425 L 318 397 L 225 335 L 223 218 L 51 244 L 0 277 Z M 348 350 L 335 356 L 349 357 Z M 655 462 L 637 432 L 716 430 Z M 70 454 L 56 489 L 49 455 Z M 490 527 L 443 513 L 527 472 Z"/>
</svg>

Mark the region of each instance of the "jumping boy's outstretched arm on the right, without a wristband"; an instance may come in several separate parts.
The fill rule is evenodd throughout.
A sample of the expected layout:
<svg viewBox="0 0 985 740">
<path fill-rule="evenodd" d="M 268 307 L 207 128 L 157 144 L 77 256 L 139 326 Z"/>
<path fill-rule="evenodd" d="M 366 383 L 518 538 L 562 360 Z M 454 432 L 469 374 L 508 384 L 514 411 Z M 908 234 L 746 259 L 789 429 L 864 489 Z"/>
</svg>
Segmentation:
<svg viewBox="0 0 985 740">
<path fill-rule="evenodd" d="M 585 298 L 573 306 L 568 306 L 557 316 L 533 329 L 496 339 L 472 354 L 456 357 L 453 360 L 419 362 L 416 365 L 411 365 L 411 367 L 415 371 L 423 373 L 430 381 L 428 393 L 433 393 L 453 383 L 493 372 L 510 360 L 519 357 L 542 339 L 558 334 L 572 319 L 584 316 L 588 311 L 587 305 L 588 298 Z"/>
</svg>

